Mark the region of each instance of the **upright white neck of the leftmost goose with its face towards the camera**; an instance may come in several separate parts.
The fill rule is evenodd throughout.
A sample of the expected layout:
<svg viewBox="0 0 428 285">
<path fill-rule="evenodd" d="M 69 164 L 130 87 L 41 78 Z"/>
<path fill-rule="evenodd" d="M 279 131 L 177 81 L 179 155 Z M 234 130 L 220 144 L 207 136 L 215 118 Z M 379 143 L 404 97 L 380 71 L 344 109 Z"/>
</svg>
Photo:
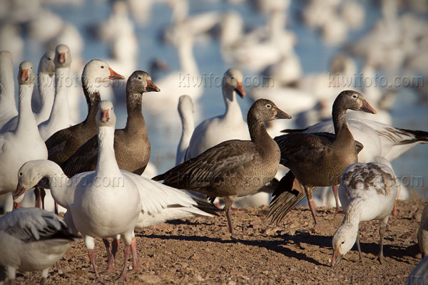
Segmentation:
<svg viewBox="0 0 428 285">
<path fill-rule="evenodd" d="M 36 119 L 31 110 L 31 95 L 34 84 L 21 84 L 19 86 L 19 113 L 16 135 L 38 135 Z"/>
</svg>

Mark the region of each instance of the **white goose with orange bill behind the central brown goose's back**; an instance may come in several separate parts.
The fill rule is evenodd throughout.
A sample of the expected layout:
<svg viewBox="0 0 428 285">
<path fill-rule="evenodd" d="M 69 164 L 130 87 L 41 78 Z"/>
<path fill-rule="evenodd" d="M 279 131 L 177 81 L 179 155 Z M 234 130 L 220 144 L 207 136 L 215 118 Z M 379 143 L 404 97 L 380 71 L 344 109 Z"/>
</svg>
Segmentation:
<svg viewBox="0 0 428 285">
<path fill-rule="evenodd" d="M 225 140 L 249 140 L 248 126 L 243 120 L 235 93 L 244 98 L 243 73 L 236 68 L 225 72 L 222 83 L 226 110 L 223 115 L 204 120 L 193 131 L 184 160 L 200 155 Z"/>
</svg>

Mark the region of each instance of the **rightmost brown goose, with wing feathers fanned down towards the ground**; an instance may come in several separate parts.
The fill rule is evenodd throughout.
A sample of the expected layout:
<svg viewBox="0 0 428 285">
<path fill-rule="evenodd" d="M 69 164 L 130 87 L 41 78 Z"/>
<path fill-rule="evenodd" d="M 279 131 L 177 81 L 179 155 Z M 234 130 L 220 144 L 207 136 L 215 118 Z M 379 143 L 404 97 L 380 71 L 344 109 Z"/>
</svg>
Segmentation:
<svg viewBox="0 0 428 285">
<path fill-rule="evenodd" d="M 334 138 L 328 133 L 289 133 L 274 139 L 281 150 L 280 163 L 290 168 L 290 172 L 273 192 L 268 215 L 272 216 L 272 222 L 279 223 L 297 202 L 307 196 L 316 226 L 315 203 L 312 200 L 312 189 L 316 186 L 336 185 L 333 191 L 337 202 L 340 176 L 346 167 L 358 162 L 357 153 L 362 150 L 362 145 L 355 142 L 347 127 L 347 109 L 376 113 L 360 93 L 345 90 L 333 103 Z"/>
</svg>

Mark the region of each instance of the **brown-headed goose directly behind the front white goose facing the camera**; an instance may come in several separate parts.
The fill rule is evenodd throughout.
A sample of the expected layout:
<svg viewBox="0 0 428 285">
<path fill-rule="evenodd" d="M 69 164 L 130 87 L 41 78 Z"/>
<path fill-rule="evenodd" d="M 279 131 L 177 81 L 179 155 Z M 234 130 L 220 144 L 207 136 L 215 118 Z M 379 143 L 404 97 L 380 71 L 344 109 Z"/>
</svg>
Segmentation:
<svg viewBox="0 0 428 285">
<path fill-rule="evenodd" d="M 151 147 L 148 140 L 146 121 L 141 112 L 143 93 L 159 88 L 144 71 L 134 71 L 126 83 L 126 127 L 114 132 L 114 153 L 119 169 L 141 175 L 150 158 Z M 64 173 L 72 177 L 77 173 L 96 169 L 98 138 L 94 135 L 85 142 L 66 162 L 61 165 Z"/>
</svg>

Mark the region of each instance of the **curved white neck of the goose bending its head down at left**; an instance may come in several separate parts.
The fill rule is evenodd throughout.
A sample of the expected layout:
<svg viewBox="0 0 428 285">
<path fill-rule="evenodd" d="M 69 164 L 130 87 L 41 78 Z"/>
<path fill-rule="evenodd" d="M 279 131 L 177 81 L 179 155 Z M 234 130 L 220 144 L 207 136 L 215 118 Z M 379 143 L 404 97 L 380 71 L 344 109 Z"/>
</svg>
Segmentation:
<svg viewBox="0 0 428 285">
<path fill-rule="evenodd" d="M 61 167 L 51 160 L 39 160 L 36 169 L 40 177 L 48 177 L 51 195 L 62 207 L 69 209 L 73 204 L 74 190 L 71 180 L 65 175 Z"/>
</svg>

